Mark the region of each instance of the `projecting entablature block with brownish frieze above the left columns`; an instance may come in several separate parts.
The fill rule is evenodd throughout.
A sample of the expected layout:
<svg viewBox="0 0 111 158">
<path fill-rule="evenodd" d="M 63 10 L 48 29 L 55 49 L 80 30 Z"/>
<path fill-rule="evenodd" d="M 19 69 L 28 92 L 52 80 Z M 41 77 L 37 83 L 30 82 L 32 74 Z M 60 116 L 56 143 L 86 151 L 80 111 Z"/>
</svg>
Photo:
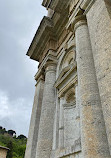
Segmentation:
<svg viewBox="0 0 111 158">
<path fill-rule="evenodd" d="M 42 62 L 44 54 L 46 55 L 48 50 L 57 50 L 59 44 L 59 38 L 64 31 L 64 26 L 68 21 L 68 12 L 63 16 L 58 13 L 54 13 L 52 18 L 44 17 L 40 23 L 40 26 L 33 38 L 33 41 L 28 49 L 27 55 L 31 59 Z M 66 34 L 68 34 L 66 32 Z"/>
</svg>

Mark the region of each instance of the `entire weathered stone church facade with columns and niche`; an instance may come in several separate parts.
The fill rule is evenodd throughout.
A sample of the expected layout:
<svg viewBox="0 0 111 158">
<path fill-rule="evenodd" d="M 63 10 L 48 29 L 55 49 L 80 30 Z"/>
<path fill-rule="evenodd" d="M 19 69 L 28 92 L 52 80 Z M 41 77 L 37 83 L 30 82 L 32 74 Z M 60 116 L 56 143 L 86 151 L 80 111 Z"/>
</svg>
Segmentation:
<svg viewBox="0 0 111 158">
<path fill-rule="evenodd" d="M 25 158 L 111 158 L 111 1 L 43 0 Z"/>
</svg>

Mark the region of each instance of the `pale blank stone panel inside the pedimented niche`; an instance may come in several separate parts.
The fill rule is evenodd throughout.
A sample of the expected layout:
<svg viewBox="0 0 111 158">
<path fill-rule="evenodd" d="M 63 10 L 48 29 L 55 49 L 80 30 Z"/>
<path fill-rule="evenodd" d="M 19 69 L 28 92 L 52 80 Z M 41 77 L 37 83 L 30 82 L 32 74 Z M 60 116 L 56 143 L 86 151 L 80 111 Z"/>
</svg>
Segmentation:
<svg viewBox="0 0 111 158">
<path fill-rule="evenodd" d="M 80 139 L 78 109 L 74 103 L 64 106 L 64 147 L 74 145 Z"/>
</svg>

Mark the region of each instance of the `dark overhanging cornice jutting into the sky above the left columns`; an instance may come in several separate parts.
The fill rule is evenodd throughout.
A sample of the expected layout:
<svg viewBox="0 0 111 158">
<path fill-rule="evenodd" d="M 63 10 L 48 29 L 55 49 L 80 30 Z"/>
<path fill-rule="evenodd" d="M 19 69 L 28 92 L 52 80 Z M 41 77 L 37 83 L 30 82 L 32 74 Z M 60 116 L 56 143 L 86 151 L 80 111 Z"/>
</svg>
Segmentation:
<svg viewBox="0 0 111 158">
<path fill-rule="evenodd" d="M 52 19 L 44 16 L 28 49 L 27 55 L 31 59 L 39 61 L 40 50 L 44 48 L 44 44 L 47 43 L 49 38 L 55 40 L 53 22 Z"/>
</svg>

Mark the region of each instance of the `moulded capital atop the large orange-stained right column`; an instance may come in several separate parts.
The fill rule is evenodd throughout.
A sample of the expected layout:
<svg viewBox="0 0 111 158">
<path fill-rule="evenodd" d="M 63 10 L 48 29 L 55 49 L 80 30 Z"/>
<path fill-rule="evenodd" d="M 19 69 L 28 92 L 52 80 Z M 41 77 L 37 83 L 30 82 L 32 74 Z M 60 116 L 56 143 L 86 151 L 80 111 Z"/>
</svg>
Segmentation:
<svg viewBox="0 0 111 158">
<path fill-rule="evenodd" d="M 74 31 L 76 31 L 76 29 L 81 25 L 87 25 L 86 16 L 85 15 L 76 16 L 72 25 L 73 25 Z"/>
</svg>

